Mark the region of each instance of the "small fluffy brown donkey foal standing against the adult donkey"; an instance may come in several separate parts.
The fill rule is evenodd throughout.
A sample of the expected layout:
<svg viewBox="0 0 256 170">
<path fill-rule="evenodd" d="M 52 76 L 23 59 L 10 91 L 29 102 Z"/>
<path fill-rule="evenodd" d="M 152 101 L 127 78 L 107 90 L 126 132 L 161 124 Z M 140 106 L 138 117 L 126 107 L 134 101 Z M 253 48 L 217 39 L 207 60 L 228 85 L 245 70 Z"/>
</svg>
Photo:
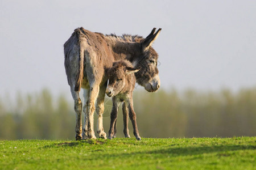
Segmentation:
<svg viewBox="0 0 256 170">
<path fill-rule="evenodd" d="M 113 62 L 113 67 L 108 70 L 109 84 L 106 88 L 106 94 L 112 97 L 113 107 L 111 112 L 111 121 L 109 129 L 109 139 L 115 136 L 115 124 L 117 121 L 118 107 L 123 102 L 123 133 L 126 138 L 130 138 L 128 129 L 128 112 L 133 124 L 133 134 L 137 140 L 141 140 L 139 137 L 139 131 L 137 128 L 136 114 L 133 109 L 133 90 L 136 82 L 134 73 L 139 69 L 134 69 L 133 65 L 126 59 Z"/>
</svg>

